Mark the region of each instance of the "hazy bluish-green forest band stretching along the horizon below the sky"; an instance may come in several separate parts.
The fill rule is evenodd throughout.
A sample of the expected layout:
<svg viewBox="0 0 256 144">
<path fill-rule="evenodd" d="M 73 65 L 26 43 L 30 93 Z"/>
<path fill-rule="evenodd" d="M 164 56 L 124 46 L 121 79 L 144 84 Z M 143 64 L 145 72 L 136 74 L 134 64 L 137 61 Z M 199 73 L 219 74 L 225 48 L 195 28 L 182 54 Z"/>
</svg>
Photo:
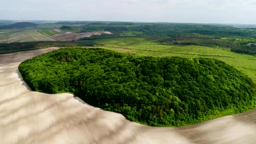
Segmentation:
<svg viewBox="0 0 256 144">
<path fill-rule="evenodd" d="M 112 31 L 112 32 L 126 32 L 136 31 L 142 32 L 144 35 L 183 35 L 197 33 L 201 35 L 212 35 L 218 37 L 244 37 L 255 38 L 256 31 L 253 29 L 236 28 L 231 26 L 214 26 L 214 25 L 200 25 L 189 23 L 155 23 L 148 25 L 148 23 L 138 23 L 138 26 L 129 25 L 85 25 L 85 26 L 63 26 L 61 29 L 79 29 L 80 32 L 90 31 Z"/>
</svg>

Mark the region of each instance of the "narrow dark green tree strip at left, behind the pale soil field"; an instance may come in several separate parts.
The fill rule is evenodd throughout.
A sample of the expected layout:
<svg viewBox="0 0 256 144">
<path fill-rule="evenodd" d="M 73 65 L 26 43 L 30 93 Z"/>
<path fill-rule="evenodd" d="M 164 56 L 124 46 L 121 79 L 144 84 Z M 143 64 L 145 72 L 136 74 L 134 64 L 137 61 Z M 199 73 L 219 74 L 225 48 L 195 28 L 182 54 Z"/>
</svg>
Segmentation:
<svg viewBox="0 0 256 144">
<path fill-rule="evenodd" d="M 92 41 L 73 42 L 73 41 L 33 41 L 24 43 L 4 43 L 0 44 L 0 54 L 19 52 L 26 50 L 36 50 L 46 47 L 75 47 L 75 46 L 94 46 Z"/>
</svg>

